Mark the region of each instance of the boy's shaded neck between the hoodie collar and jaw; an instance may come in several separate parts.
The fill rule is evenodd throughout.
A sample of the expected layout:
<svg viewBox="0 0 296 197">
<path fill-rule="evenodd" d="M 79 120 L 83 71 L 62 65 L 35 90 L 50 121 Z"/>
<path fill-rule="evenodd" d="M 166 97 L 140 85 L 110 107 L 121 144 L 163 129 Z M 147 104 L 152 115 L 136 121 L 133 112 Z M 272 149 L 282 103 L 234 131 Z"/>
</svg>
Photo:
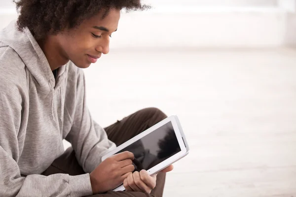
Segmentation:
<svg viewBox="0 0 296 197">
<path fill-rule="evenodd" d="M 69 62 L 58 43 L 57 36 L 49 35 L 43 40 L 38 40 L 37 43 L 42 49 L 51 70 L 55 70 Z"/>
</svg>

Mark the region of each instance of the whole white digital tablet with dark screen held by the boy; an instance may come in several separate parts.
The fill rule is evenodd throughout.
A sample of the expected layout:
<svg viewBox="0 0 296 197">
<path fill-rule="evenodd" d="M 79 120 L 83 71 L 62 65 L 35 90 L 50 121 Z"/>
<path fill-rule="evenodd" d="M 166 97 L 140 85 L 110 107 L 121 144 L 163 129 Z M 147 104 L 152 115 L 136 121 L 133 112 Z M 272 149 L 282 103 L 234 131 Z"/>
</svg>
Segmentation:
<svg viewBox="0 0 296 197">
<path fill-rule="evenodd" d="M 147 170 L 155 174 L 177 162 L 189 153 L 189 147 L 177 116 L 170 116 L 146 131 L 136 135 L 102 157 L 108 157 L 124 151 L 135 156 L 135 171 Z M 124 191 L 123 183 L 113 191 Z"/>
</svg>

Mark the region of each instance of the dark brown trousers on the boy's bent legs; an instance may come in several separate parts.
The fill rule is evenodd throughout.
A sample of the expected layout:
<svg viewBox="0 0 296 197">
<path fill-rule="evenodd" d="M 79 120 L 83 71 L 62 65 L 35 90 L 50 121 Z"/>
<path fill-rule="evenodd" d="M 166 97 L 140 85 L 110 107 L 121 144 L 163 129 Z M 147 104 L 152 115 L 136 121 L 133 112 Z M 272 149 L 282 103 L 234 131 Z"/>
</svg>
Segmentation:
<svg viewBox="0 0 296 197">
<path fill-rule="evenodd" d="M 121 121 L 105 128 L 108 138 L 117 146 L 133 138 L 137 134 L 147 130 L 156 123 L 162 121 L 167 116 L 157 108 L 146 108 L 125 117 Z M 56 159 L 42 175 L 48 176 L 56 173 L 70 175 L 85 174 L 82 167 L 78 164 L 74 150 L 68 148 L 65 153 Z M 162 197 L 165 183 L 165 173 L 158 173 L 156 187 L 150 195 L 142 192 L 107 192 L 104 194 L 92 195 L 91 197 Z"/>
</svg>

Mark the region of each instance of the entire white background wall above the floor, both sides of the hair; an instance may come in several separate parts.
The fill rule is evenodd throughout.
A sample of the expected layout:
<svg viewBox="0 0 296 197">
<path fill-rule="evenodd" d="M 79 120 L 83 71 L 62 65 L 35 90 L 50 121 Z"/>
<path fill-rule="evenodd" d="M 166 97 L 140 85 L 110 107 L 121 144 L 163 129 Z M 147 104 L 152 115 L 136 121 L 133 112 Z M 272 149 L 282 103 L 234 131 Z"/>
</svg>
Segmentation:
<svg viewBox="0 0 296 197">
<path fill-rule="evenodd" d="M 183 0 L 181 5 L 179 0 L 146 0 L 153 6 L 151 10 L 122 14 L 111 48 L 296 45 L 295 13 L 287 13 L 278 1 L 296 2 Z M 16 18 L 11 1 L 0 0 L 0 29 Z"/>
</svg>

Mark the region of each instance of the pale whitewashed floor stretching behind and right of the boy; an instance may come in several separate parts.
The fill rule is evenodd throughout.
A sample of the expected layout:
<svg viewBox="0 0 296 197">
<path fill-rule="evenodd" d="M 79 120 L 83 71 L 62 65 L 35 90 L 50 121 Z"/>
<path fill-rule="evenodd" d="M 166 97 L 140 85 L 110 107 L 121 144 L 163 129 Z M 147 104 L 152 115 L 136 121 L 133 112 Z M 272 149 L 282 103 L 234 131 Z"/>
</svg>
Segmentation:
<svg viewBox="0 0 296 197">
<path fill-rule="evenodd" d="M 296 50 L 111 51 L 85 70 L 93 118 L 177 114 L 190 153 L 164 197 L 296 197 Z"/>
</svg>

